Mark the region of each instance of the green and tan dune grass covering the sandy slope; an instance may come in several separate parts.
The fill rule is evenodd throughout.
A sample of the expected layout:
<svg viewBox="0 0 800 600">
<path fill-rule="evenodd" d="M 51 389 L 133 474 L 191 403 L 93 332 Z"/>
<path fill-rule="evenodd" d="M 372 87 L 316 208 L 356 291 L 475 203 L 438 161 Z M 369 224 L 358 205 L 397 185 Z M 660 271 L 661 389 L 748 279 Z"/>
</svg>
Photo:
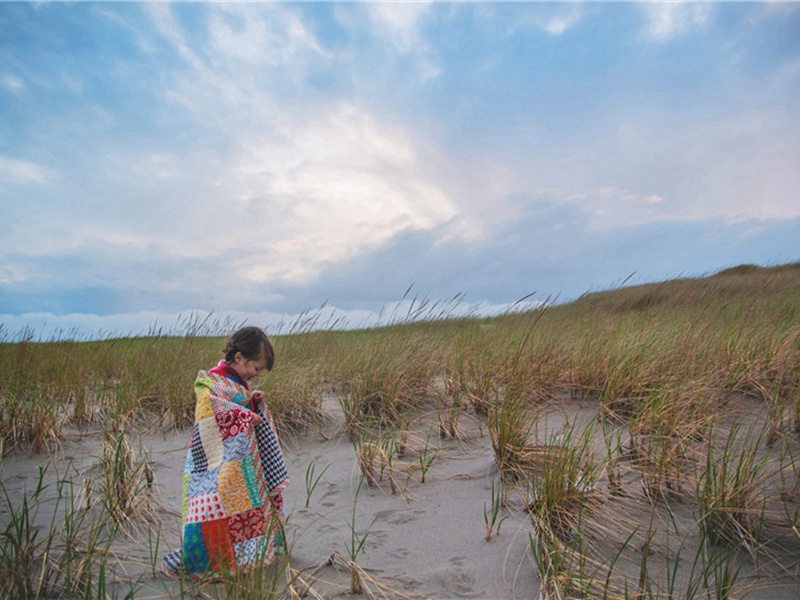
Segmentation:
<svg viewBox="0 0 800 600">
<path fill-rule="evenodd" d="M 52 451 L 74 428 L 102 424 L 118 441 L 145 421 L 186 427 L 196 372 L 224 343 L 205 331 L 0 343 L 0 457 Z M 415 414 L 436 411 L 442 436 L 459 437 L 466 413 L 485 427 L 503 485 L 526 498 L 551 597 L 732 597 L 742 568 L 763 585 L 798 575 L 800 263 L 485 319 L 450 318 L 447 305 L 423 302 L 375 329 L 309 318 L 273 341 L 276 368 L 258 385 L 278 426 L 321 428 L 323 399 L 335 398 L 365 477 L 385 470 L 392 491 Z M 592 413 L 589 425 L 547 433 L 553 410 L 577 405 Z M 147 470 L 114 439 L 103 493 L 122 526 L 146 505 Z M 423 477 L 425 442 L 416 449 Z M 139 470 L 132 479 L 120 469 Z M 24 528 L 31 501 L 3 527 Z M 631 509 L 630 522 L 617 523 L 612 512 L 626 503 L 649 513 Z M 694 507 L 691 522 L 669 517 L 679 504 Z M 487 506 L 488 527 L 502 519 L 497 492 Z M 20 549 L 4 547 L 0 569 L 43 543 L 13 535 Z M 657 541 L 666 550 L 644 551 Z"/>
</svg>

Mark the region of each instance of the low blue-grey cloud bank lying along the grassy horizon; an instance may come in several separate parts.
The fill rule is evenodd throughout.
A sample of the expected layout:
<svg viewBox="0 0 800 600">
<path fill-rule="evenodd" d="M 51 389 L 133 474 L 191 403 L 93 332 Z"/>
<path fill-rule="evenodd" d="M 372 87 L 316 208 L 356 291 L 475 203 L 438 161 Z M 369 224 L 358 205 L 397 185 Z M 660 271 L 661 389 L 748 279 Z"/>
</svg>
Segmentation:
<svg viewBox="0 0 800 600">
<path fill-rule="evenodd" d="M 122 310 L 95 314 L 76 310 L 80 294 L 108 294 L 107 289 L 74 290 L 76 303 L 67 311 L 31 308 L 27 298 L 21 304 L 27 310 L 6 308 L 6 314 L 0 314 L 0 340 L 30 329 L 44 338 L 59 332 L 63 337 L 69 330 L 78 337 L 98 332 L 106 336 L 145 334 L 158 329 L 181 334 L 187 322 L 198 321 L 228 331 L 232 323 L 245 321 L 273 332 L 287 332 L 299 323 L 323 328 L 334 323 L 366 327 L 407 314 L 414 309 L 410 301 L 417 307 L 430 306 L 434 312 L 452 311 L 452 315 L 470 311 L 497 314 L 510 308 L 513 302 L 509 299 L 528 294 L 533 294 L 531 302 L 563 302 L 624 280 L 647 283 L 701 276 L 742 263 L 770 265 L 800 259 L 795 242 L 800 217 L 737 223 L 723 219 L 643 223 L 609 235 L 593 227 L 591 215 L 578 206 L 557 202 L 524 206 L 518 219 L 507 222 L 483 243 L 446 238 L 437 230 L 403 231 L 375 251 L 343 261 L 313 281 L 284 281 L 256 288 L 261 302 L 249 306 L 233 306 L 228 296 L 216 293 L 219 290 L 213 284 L 220 280 L 209 281 L 207 263 L 198 263 L 193 272 L 195 277 L 205 278 L 207 295 L 187 289 L 182 296 L 165 301 L 168 290 L 135 291 L 122 286 L 117 293 L 132 296 L 130 302 Z M 164 257 L 164 261 L 172 259 Z M 65 262 L 73 260 L 67 257 Z M 143 269 L 144 264 L 136 274 L 141 276 Z M 104 275 L 98 276 L 102 279 Z M 65 293 L 64 282 L 54 286 Z M 408 297 L 401 301 L 409 286 Z M 266 290 L 274 297 L 263 294 Z M 144 302 L 148 294 L 157 296 L 149 305 Z M 198 306 L 200 298 L 204 306 Z M 3 306 L 10 306 L 7 299 Z M 187 308 L 192 306 L 197 308 Z M 216 308 L 210 310 L 213 306 Z"/>
</svg>

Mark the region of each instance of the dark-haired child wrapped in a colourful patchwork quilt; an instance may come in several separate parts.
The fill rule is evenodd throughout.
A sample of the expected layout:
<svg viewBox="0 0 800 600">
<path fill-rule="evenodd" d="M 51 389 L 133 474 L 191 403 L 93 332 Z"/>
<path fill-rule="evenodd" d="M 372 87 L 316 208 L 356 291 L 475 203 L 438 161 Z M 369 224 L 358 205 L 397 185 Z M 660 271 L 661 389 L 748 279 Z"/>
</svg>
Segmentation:
<svg viewBox="0 0 800 600">
<path fill-rule="evenodd" d="M 272 370 L 275 351 L 258 327 L 234 333 L 225 359 L 200 371 L 195 423 L 183 469 L 183 542 L 164 557 L 176 576 L 234 571 L 274 560 L 288 483 L 263 392 L 248 382 Z"/>
</svg>

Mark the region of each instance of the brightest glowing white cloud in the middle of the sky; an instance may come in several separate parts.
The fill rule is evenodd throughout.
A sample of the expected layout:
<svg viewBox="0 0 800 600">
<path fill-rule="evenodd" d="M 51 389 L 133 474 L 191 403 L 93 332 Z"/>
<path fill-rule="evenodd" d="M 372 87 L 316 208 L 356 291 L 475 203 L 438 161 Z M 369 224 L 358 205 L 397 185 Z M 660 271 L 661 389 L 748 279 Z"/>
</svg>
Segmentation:
<svg viewBox="0 0 800 600">
<path fill-rule="evenodd" d="M 275 260 L 243 260 L 243 272 L 306 278 L 399 231 L 451 219 L 456 207 L 424 167 L 408 132 L 350 106 L 296 123 L 291 142 L 246 148 L 236 167 L 249 175 L 242 192 L 280 207 L 282 225 L 265 246 Z"/>
</svg>

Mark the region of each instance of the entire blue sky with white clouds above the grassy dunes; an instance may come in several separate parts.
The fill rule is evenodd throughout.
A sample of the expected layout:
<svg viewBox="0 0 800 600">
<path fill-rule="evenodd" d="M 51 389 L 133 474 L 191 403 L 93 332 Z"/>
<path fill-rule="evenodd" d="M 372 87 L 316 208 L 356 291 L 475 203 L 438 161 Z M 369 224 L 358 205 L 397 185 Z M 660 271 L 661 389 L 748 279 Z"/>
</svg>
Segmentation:
<svg viewBox="0 0 800 600">
<path fill-rule="evenodd" d="M 0 340 L 794 262 L 799 98 L 800 2 L 0 1 Z"/>
</svg>

